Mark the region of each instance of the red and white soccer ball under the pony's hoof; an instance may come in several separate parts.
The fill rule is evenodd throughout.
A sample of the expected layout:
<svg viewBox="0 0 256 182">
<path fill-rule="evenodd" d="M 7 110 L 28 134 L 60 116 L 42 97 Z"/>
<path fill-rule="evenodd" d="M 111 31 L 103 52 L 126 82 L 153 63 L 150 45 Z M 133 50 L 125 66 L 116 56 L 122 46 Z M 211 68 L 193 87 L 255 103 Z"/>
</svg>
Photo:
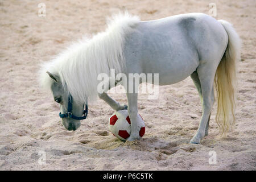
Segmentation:
<svg viewBox="0 0 256 182">
<path fill-rule="evenodd" d="M 141 127 L 139 136 L 145 133 L 145 123 L 141 115 L 137 114 L 137 123 Z M 127 110 L 118 110 L 109 118 L 109 130 L 117 138 L 125 141 L 131 134 L 131 121 Z"/>
</svg>

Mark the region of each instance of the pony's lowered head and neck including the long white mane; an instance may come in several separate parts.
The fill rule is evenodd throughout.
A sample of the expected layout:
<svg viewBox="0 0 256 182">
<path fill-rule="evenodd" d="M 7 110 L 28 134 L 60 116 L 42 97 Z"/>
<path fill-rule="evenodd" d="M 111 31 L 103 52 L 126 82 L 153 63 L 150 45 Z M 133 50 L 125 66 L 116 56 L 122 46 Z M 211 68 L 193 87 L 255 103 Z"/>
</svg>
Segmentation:
<svg viewBox="0 0 256 182">
<path fill-rule="evenodd" d="M 44 88 L 51 89 L 53 99 L 60 104 L 59 115 L 66 129 L 78 129 L 80 120 L 86 118 L 88 108 L 85 104 L 84 110 L 84 102 L 97 99 L 98 75 L 110 76 L 110 68 L 121 73 L 121 68 L 125 67 L 125 35 L 133 31 L 138 22 L 137 16 L 127 12 L 115 15 L 109 19 L 105 32 L 73 43 L 42 65 L 39 81 Z"/>
</svg>

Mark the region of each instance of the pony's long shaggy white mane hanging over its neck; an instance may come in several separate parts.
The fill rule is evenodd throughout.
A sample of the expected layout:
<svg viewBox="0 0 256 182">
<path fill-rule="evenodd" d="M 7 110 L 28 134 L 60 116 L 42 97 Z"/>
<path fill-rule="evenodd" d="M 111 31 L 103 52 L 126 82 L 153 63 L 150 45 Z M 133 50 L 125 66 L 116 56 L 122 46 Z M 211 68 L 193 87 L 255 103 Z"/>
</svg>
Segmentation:
<svg viewBox="0 0 256 182">
<path fill-rule="evenodd" d="M 60 77 L 65 89 L 77 101 L 93 101 L 97 98 L 97 76 L 110 75 L 110 69 L 119 73 L 125 66 L 123 44 L 125 36 L 139 22 L 137 16 L 119 13 L 107 21 L 108 27 L 89 40 L 80 40 L 55 59 L 43 64 L 40 83 L 51 88 L 53 80 L 47 71 Z"/>
</svg>

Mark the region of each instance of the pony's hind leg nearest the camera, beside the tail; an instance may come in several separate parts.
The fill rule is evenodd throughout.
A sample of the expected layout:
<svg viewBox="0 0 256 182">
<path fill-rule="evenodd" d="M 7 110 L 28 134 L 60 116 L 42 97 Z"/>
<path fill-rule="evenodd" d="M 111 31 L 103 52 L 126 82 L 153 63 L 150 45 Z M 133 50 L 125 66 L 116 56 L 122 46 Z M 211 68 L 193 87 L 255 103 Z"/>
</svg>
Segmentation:
<svg viewBox="0 0 256 182">
<path fill-rule="evenodd" d="M 190 143 L 199 144 L 205 134 L 208 134 L 210 112 L 214 103 L 213 82 L 216 72 L 214 66 L 210 65 L 211 62 L 208 63 L 209 64 L 205 63 L 200 65 L 199 68 L 197 68 L 197 74 L 194 72 L 191 76 L 192 80 L 195 82 L 197 90 L 199 90 L 199 94 L 201 94 L 201 97 L 203 98 L 203 115 L 201 117 L 199 129 L 197 130 L 196 135 L 191 139 Z M 201 89 L 199 89 L 199 83 Z"/>
</svg>

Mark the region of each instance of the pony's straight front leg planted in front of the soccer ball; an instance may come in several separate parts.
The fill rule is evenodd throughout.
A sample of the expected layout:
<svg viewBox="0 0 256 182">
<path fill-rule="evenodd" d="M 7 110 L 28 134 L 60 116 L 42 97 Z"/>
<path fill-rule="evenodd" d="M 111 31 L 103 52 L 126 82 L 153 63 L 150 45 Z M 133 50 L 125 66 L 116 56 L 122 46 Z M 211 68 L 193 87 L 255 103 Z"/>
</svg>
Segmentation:
<svg viewBox="0 0 256 182">
<path fill-rule="evenodd" d="M 141 129 L 137 123 L 137 114 L 138 114 L 138 93 L 127 93 L 128 100 L 128 114 L 131 120 L 131 134 L 127 139 L 133 141 L 135 139 L 140 139 L 139 130 Z"/>
</svg>

